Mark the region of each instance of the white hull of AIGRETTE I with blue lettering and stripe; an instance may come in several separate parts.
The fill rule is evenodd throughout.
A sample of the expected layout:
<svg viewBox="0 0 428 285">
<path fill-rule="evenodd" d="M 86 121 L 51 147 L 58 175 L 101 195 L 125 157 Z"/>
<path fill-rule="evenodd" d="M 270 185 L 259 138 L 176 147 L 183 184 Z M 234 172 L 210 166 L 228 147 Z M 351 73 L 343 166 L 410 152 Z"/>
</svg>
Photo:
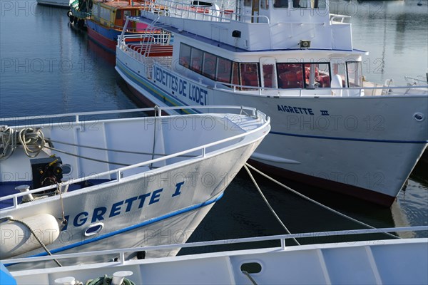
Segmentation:
<svg viewBox="0 0 428 285">
<path fill-rule="evenodd" d="M 214 124 L 210 130 L 203 129 L 202 125 L 207 117 Z M 1 228 L 1 242 L 8 244 L 7 249 L 1 248 L 1 258 L 47 255 L 46 250 L 33 239 L 29 227 L 19 222 L 35 215 L 52 217 L 60 224 L 63 219 L 67 221 L 59 229 L 51 229 L 47 222 L 41 223 L 47 224 L 43 227 L 33 223 L 34 232 L 46 235 L 43 240 L 52 254 L 186 242 L 269 130 L 266 125 L 266 129 L 260 128 L 260 133 L 251 132 L 246 136 L 243 128 L 251 127 L 243 125 L 228 131 L 224 119 L 224 115 L 192 115 L 163 116 L 157 120 L 159 123 L 154 123 L 153 118 L 143 117 L 32 125 L 43 130 L 44 138 L 61 147 L 61 150 L 54 150 L 60 152 L 61 157 L 49 162 L 47 160 L 53 160 L 51 153 L 41 152 L 37 161 L 29 160 L 24 150 L 18 147 L 10 157 L 1 160 L 1 202 L 10 201 L 12 204 L 1 204 L 6 207 L 0 210 L 0 223 L 11 223 L 7 229 L 22 229 L 15 232 Z M 258 120 L 253 120 L 253 123 L 260 127 Z M 151 138 L 155 134 L 156 139 Z M 183 140 L 183 136 L 190 137 L 190 134 L 191 141 Z M 161 159 L 164 155 L 160 154 L 163 153 L 193 150 L 239 134 L 245 138 L 241 136 L 207 147 L 203 155 L 201 150 L 195 150 L 184 156 Z M 101 148 L 89 149 L 88 145 Z M 78 153 L 77 157 L 73 155 L 75 153 Z M 158 161 L 147 162 L 155 157 Z M 48 172 L 44 165 L 54 165 L 60 158 L 61 164 L 68 165 L 70 170 L 64 175 L 65 179 L 61 178 L 63 182 L 71 181 L 68 191 L 19 204 L 16 197 L 3 197 L 8 191 L 13 192 L 17 185 L 31 185 L 31 182 L 35 185 L 42 181 L 34 176 L 35 170 L 44 170 L 41 174 Z M 117 168 L 124 162 L 132 166 L 145 161 L 147 166 Z M 39 166 L 41 162 L 43 166 Z M 31 172 L 33 180 L 29 180 Z M 73 182 L 83 179 L 80 177 L 87 178 L 83 182 Z M 8 222 L 8 217 L 14 220 Z M 59 236 L 54 238 L 52 232 L 59 232 Z M 34 243 L 36 247 L 24 248 L 26 243 Z M 16 249 L 24 251 L 14 252 Z M 151 251 L 146 256 L 167 257 L 177 252 L 175 249 Z M 92 261 L 114 258 L 94 257 Z M 86 261 L 89 259 L 73 259 L 68 265 Z M 32 268 L 34 264 L 9 266 L 17 270 Z M 55 264 L 50 262 L 44 266 Z"/>
</svg>

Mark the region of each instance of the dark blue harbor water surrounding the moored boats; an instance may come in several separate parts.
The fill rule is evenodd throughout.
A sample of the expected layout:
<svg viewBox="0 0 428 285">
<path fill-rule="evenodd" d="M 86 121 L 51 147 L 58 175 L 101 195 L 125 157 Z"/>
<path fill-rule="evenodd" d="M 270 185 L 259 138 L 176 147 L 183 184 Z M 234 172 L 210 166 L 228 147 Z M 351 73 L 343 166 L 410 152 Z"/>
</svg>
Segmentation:
<svg viewBox="0 0 428 285">
<path fill-rule="evenodd" d="M 330 1 L 332 13 L 352 16 L 354 48 L 370 51 L 363 58 L 367 81 L 405 84 L 404 76 L 426 76 L 428 3 L 418 2 Z M 0 1 L 0 117 L 136 108 L 114 56 L 71 28 L 66 12 L 35 0 Z M 255 179 L 292 233 L 363 228 L 259 175 Z M 428 224 L 428 160 L 418 163 L 389 208 L 282 182 L 373 227 Z M 241 171 L 190 241 L 285 233 Z M 176 242 L 174 233 L 163 234 Z"/>
</svg>

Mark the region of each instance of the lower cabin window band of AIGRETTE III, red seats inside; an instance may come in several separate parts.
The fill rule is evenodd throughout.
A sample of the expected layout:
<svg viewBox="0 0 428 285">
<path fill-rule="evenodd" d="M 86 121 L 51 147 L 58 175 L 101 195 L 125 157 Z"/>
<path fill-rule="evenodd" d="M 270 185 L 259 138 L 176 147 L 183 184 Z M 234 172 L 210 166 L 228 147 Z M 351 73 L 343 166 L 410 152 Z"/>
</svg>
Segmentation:
<svg viewBox="0 0 428 285">
<path fill-rule="evenodd" d="M 175 37 L 175 41 L 180 39 Z M 238 90 L 362 86 L 360 56 L 333 60 L 331 55 L 325 54 L 324 59 L 318 56 L 319 59 L 315 60 L 304 58 L 298 53 L 288 55 L 287 51 L 250 55 L 232 52 L 228 56 L 224 50 L 215 47 L 208 49 L 197 46 L 197 42 L 194 45 L 180 42 L 177 58 L 179 66 L 195 73 L 195 79 L 200 80 L 203 76 L 225 83 L 226 86 L 235 86 Z M 188 76 L 192 77 L 190 72 Z"/>
</svg>

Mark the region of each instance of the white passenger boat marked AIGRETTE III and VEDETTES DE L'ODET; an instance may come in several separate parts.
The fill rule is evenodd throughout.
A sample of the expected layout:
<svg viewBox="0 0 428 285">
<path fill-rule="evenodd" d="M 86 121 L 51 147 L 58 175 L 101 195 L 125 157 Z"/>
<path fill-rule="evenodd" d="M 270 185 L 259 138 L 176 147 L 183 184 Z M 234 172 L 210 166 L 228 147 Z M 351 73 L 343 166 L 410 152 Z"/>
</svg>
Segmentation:
<svg viewBox="0 0 428 285">
<path fill-rule="evenodd" d="M 156 0 L 116 70 L 157 105 L 244 104 L 272 118 L 264 170 L 389 206 L 428 142 L 427 86 L 363 81 L 348 16 L 327 0 Z M 371 86 L 371 87 L 370 87 Z"/>
</svg>

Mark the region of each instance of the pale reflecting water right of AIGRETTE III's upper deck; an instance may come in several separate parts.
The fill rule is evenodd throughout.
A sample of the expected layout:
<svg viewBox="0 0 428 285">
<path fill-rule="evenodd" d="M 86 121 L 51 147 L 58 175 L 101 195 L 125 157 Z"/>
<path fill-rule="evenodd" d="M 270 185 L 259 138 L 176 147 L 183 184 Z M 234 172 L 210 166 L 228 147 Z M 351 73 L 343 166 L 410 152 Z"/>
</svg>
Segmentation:
<svg viewBox="0 0 428 285">
<path fill-rule="evenodd" d="M 405 84 L 404 76 L 424 76 L 428 64 L 428 3 L 405 1 L 331 1 L 330 12 L 352 16 L 353 46 L 363 56 L 365 76 Z"/>
</svg>

